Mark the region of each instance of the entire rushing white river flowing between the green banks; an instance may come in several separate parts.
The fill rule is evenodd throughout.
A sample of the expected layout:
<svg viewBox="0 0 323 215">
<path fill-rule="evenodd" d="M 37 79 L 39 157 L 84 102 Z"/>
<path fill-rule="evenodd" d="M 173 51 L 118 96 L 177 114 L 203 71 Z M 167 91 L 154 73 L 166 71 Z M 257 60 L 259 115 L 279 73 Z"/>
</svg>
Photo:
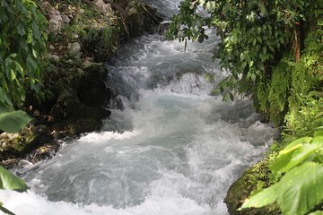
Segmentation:
<svg viewBox="0 0 323 215">
<path fill-rule="evenodd" d="M 151 3 L 170 15 L 178 1 Z M 125 110 L 112 111 L 101 132 L 23 169 L 31 190 L 1 191 L 5 207 L 17 215 L 226 214 L 227 189 L 274 131 L 248 99 L 209 96 L 226 75 L 211 60 L 216 44 L 189 43 L 184 52 L 158 35 L 129 42 L 109 65 Z M 214 73 L 214 82 L 205 73 Z"/>
</svg>

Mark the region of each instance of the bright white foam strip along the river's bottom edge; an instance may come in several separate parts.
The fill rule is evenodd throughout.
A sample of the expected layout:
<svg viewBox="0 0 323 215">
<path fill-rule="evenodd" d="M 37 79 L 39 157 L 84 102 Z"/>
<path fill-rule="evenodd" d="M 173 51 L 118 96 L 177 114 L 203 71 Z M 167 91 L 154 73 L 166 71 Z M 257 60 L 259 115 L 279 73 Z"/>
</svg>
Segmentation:
<svg viewBox="0 0 323 215">
<path fill-rule="evenodd" d="M 83 206 L 68 202 L 48 202 L 45 197 L 41 197 L 32 192 L 13 193 L 0 191 L 0 196 L 5 196 L 2 199 L 4 199 L 3 202 L 6 208 L 12 209 L 15 214 L 22 215 L 196 215 L 209 211 L 207 206 L 198 205 L 191 199 L 181 198 L 179 196 L 167 196 L 167 198 L 148 196 L 143 204 L 122 210 L 114 209 L 112 206 L 99 206 L 94 203 Z"/>
</svg>

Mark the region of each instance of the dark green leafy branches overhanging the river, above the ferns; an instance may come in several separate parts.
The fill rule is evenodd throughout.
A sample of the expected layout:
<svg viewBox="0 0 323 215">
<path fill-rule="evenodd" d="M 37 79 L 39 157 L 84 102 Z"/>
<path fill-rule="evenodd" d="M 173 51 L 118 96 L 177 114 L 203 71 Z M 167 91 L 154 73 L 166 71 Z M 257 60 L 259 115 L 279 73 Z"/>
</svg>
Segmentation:
<svg viewBox="0 0 323 215">
<path fill-rule="evenodd" d="M 301 0 L 185 0 L 180 3 L 179 14 L 173 17 L 170 38 L 196 40 L 204 37 L 204 26 L 216 28 L 222 39 L 217 56 L 223 67 L 235 79 L 243 74 L 242 82 L 254 82 L 266 73 L 276 51 L 292 41 L 295 23 L 305 19 L 303 13 L 315 6 L 316 3 Z M 210 16 L 199 13 L 199 7 Z"/>
</svg>

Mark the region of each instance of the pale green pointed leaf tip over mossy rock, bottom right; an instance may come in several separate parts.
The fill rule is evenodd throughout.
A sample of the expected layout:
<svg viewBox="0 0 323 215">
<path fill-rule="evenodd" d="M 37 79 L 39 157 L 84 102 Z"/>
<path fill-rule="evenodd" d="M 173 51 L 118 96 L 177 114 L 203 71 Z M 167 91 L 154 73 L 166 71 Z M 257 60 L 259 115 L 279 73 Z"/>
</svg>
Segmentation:
<svg viewBox="0 0 323 215">
<path fill-rule="evenodd" d="M 273 185 L 262 190 L 260 193 L 250 196 L 250 198 L 245 200 L 242 204 L 239 211 L 246 208 L 261 208 L 275 202 L 278 198 L 275 189 L 276 185 Z"/>
</svg>

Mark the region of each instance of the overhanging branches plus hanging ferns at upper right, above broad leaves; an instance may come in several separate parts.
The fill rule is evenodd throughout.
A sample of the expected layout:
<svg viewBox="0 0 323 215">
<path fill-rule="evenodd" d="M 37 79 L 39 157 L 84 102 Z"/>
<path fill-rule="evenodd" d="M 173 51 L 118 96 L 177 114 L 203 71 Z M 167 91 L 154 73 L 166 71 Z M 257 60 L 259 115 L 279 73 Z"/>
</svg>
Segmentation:
<svg viewBox="0 0 323 215">
<path fill-rule="evenodd" d="M 314 70 L 322 51 L 320 1 L 183 0 L 179 8 L 170 24 L 170 39 L 201 42 L 210 28 L 222 39 L 215 57 L 231 75 L 215 92 L 238 89 L 251 94 L 258 111 L 281 125 L 290 103 L 300 107 L 298 96 L 318 86 L 318 75 L 313 74 L 318 73 Z M 312 43 L 305 41 L 301 63 L 292 64 L 299 31 L 298 45 L 305 37 Z"/>
</svg>

